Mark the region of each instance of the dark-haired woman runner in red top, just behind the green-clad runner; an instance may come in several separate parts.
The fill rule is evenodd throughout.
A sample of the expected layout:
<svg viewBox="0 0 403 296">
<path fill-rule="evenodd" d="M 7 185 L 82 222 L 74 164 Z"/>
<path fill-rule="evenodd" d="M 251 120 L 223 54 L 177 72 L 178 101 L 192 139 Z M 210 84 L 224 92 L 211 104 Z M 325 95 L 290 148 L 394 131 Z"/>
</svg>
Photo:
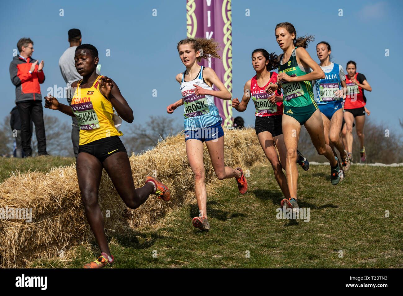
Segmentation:
<svg viewBox="0 0 403 296">
<path fill-rule="evenodd" d="M 238 98 L 233 99 L 232 106 L 235 110 L 244 112 L 250 99 L 255 103 L 256 135 L 266 157 L 272 165 L 274 177 L 288 200 L 290 193 L 287 186 L 287 178 L 282 170 L 282 168 L 285 170 L 286 159 L 283 130 L 281 128 L 283 95 L 278 91 L 271 94 L 265 92 L 269 84 L 274 84 L 277 81 L 277 73 L 270 72 L 278 67 L 277 56 L 274 53 L 269 54 L 263 48 L 258 48 L 252 52 L 252 66 L 256 71 L 256 75 L 245 83 L 242 101 L 239 102 Z M 280 154 L 280 161 L 278 160 L 276 147 Z M 304 170 L 308 170 L 309 162 L 299 151 L 298 154 L 299 158 L 297 160 L 299 164 Z"/>
</svg>

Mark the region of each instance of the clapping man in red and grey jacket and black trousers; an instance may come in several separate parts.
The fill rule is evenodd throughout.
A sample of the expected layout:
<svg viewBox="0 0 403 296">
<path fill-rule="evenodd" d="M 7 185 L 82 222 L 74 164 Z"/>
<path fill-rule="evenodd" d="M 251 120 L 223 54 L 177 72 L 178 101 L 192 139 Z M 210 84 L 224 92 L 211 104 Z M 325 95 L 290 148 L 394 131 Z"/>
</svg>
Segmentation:
<svg viewBox="0 0 403 296">
<path fill-rule="evenodd" d="M 17 43 L 19 56 L 15 56 L 10 63 L 10 77 L 15 85 L 15 103 L 21 118 L 21 142 L 26 156 L 32 155 L 30 135 L 30 122 L 35 124 L 38 154 L 48 155 L 46 152 L 46 136 L 44 125 L 44 111 L 42 108 L 42 95 L 40 83 L 44 83 L 45 75 L 42 71 L 44 61 L 31 58 L 33 41 L 21 38 Z"/>
</svg>

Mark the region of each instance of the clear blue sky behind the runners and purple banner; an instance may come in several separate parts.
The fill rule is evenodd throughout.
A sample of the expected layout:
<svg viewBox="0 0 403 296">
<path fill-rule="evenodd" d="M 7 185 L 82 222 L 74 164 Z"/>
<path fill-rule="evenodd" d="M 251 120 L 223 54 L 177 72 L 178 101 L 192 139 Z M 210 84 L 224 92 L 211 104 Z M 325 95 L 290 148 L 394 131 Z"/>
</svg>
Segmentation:
<svg viewBox="0 0 403 296">
<path fill-rule="evenodd" d="M 287 4 L 284 4 L 287 3 Z M 318 5 L 320 4 L 320 5 Z M 152 10 L 157 9 L 157 16 Z M 249 8 L 250 16 L 245 16 Z M 339 17 L 339 9 L 343 16 Z M 61 17 L 60 9 L 64 10 Z M 370 118 L 384 122 L 385 129 L 401 132 L 403 119 L 401 81 L 396 70 L 402 60 L 402 2 L 400 1 L 267 1 L 233 0 L 233 98 L 241 97 L 245 82 L 256 72 L 251 66 L 251 52 L 265 48 L 280 54 L 274 37 L 277 23 L 289 21 L 297 35 L 315 35 L 307 48 L 312 58 L 316 44 L 328 41 L 333 61 L 345 68 L 348 60 L 357 62 L 357 72 L 366 75 L 372 92 L 366 92 Z M 0 120 L 15 106 L 15 86 L 8 72 L 13 49 L 21 37 L 34 41 L 33 58 L 44 60 L 48 87 L 65 87 L 58 60 L 69 47 L 67 31 L 81 30 L 83 43 L 96 46 L 100 54 L 101 72 L 118 84 L 132 107 L 135 122 L 144 122 L 150 115 L 160 120 L 175 118 L 183 125 L 182 112 L 166 113 L 166 106 L 180 97 L 175 75 L 184 70 L 177 53 L 177 42 L 186 37 L 186 1 L 8 1 L 0 10 L 2 29 L 0 48 L 1 86 L 3 89 Z M 106 50 L 110 56 L 106 56 Z M 389 49 L 390 56 L 385 56 Z M 153 97 L 153 89 L 157 97 Z M 254 125 L 254 108 L 234 116 L 243 116 L 246 125 Z M 70 118 L 45 109 L 63 122 Z M 127 123 L 126 123 L 127 124 Z M 122 128 L 124 132 L 124 126 Z"/>
</svg>

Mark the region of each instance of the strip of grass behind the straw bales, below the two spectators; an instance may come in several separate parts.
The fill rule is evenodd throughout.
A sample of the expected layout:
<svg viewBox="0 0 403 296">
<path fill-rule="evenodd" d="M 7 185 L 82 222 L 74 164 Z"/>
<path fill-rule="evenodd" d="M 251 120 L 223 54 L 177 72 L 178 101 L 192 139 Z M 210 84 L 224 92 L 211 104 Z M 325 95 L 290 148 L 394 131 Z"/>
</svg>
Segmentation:
<svg viewBox="0 0 403 296">
<path fill-rule="evenodd" d="M 12 176 L 18 170 L 20 173 L 38 170 L 49 172 L 53 167 L 69 166 L 75 163 L 75 157 L 35 156 L 27 158 L 0 157 L 0 182 Z"/>
</svg>

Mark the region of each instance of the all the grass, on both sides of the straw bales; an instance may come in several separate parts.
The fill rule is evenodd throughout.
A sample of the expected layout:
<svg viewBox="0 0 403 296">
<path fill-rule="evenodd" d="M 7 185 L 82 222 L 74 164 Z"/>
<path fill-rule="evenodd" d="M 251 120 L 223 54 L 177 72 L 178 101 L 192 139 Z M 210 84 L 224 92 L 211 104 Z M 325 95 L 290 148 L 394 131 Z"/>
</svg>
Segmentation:
<svg viewBox="0 0 403 296">
<path fill-rule="evenodd" d="M 0 159 L 1 176 L 4 180 L 17 167 L 46 172 L 52 165 L 73 162 L 60 157 Z M 308 172 L 299 168 L 298 203 L 310 209 L 310 221 L 296 223 L 276 219 L 282 194 L 270 166 L 250 169 L 246 195 L 239 194 L 235 180 L 217 180 L 208 185 L 218 187 L 208 196 L 210 232 L 193 228 L 191 219 L 198 215 L 193 201 L 156 225 L 110 237 L 113 267 L 402 267 L 398 206 L 403 168 L 352 166 L 346 175 L 332 186 L 328 166 L 311 166 Z M 31 266 L 80 268 L 99 254 L 91 242 L 66 251 L 64 258 Z"/>
</svg>

